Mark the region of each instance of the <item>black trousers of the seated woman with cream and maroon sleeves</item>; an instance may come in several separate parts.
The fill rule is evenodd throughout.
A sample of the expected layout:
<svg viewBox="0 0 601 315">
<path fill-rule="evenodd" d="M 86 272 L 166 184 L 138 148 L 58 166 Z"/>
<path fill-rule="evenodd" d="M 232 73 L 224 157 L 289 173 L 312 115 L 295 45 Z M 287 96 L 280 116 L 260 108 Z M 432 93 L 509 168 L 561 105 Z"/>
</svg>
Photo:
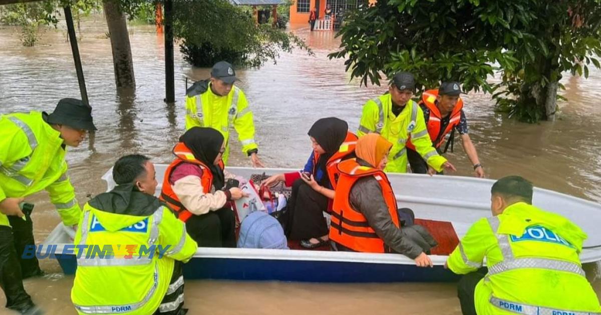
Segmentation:
<svg viewBox="0 0 601 315">
<path fill-rule="evenodd" d="M 236 217 L 229 207 L 192 215 L 186 221 L 186 231 L 198 247 L 236 247 Z"/>
</svg>

